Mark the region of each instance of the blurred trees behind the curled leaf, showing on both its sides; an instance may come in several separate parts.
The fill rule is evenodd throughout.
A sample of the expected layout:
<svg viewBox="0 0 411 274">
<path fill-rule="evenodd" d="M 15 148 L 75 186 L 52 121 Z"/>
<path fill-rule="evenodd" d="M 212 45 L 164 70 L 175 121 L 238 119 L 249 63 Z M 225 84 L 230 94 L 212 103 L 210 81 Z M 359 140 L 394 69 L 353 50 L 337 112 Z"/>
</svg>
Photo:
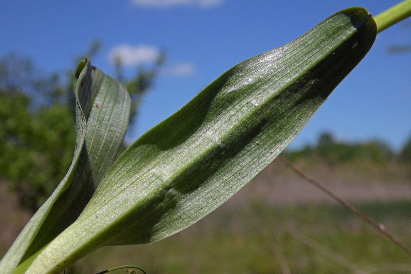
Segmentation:
<svg viewBox="0 0 411 274">
<path fill-rule="evenodd" d="M 87 56 L 94 56 L 100 47 L 93 42 Z M 129 79 L 118 75 L 132 98 L 130 122 L 163 60 L 164 54 L 150 68 L 139 67 Z M 120 63 L 116 70 L 122 73 Z M 27 58 L 9 54 L 0 59 L 0 178 L 32 213 L 60 183 L 72 161 L 73 73 L 74 69 L 66 73 L 69 80 L 64 84 L 59 74 L 43 75 Z"/>
</svg>

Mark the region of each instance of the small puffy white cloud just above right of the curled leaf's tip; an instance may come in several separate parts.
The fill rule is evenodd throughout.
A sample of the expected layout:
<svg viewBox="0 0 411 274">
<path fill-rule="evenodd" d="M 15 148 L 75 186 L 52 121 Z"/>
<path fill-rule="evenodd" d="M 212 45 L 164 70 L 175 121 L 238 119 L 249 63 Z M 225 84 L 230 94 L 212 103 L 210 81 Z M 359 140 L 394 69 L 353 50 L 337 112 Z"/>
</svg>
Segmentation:
<svg viewBox="0 0 411 274">
<path fill-rule="evenodd" d="M 115 63 L 116 58 L 120 58 L 122 65 L 131 66 L 152 62 L 159 54 L 160 51 L 154 46 L 122 44 L 110 51 L 109 59 L 111 63 Z"/>
</svg>

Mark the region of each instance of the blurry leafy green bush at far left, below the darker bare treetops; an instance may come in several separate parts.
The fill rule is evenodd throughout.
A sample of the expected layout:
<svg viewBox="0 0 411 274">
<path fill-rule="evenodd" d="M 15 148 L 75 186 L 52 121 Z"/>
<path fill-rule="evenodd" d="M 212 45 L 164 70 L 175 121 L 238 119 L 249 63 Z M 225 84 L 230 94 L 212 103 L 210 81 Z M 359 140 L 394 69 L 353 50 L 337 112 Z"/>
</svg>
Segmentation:
<svg viewBox="0 0 411 274">
<path fill-rule="evenodd" d="M 67 172 L 76 133 L 67 105 L 31 110 L 32 101 L 0 90 L 0 174 L 34 213 Z"/>
</svg>

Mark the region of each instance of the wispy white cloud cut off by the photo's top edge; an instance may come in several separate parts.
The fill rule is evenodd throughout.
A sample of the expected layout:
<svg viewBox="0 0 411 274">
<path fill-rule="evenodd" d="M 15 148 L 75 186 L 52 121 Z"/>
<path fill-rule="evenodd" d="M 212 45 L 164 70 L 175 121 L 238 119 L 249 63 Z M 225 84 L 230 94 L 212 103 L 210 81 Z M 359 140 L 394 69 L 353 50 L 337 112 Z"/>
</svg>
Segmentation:
<svg viewBox="0 0 411 274">
<path fill-rule="evenodd" d="M 192 5 L 201 8 L 215 7 L 225 0 L 131 0 L 134 5 L 146 7 L 171 7 L 181 5 Z"/>
</svg>

